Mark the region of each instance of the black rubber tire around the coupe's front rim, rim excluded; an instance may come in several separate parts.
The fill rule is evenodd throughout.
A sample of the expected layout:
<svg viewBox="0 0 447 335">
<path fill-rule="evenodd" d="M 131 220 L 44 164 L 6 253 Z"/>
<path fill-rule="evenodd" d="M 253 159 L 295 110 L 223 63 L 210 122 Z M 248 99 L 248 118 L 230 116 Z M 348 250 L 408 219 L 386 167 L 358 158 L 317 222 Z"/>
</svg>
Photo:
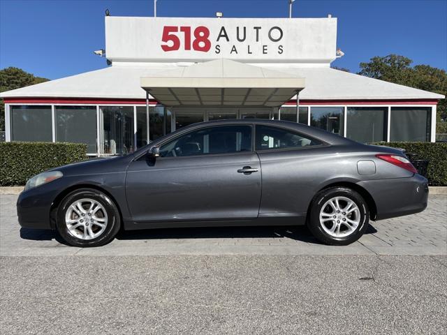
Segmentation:
<svg viewBox="0 0 447 335">
<path fill-rule="evenodd" d="M 107 213 L 107 225 L 105 225 L 104 231 L 93 239 L 80 239 L 78 237 L 73 236 L 71 232 L 69 232 L 68 227 L 65 222 L 66 211 L 69 209 L 70 205 L 73 204 L 76 200 L 80 199 L 92 199 L 96 202 L 100 203 L 103 206 Z M 107 195 L 102 193 L 101 191 L 92 189 L 92 188 L 80 188 L 75 190 L 62 200 L 59 208 L 57 209 L 57 222 L 56 229 L 61 235 L 62 239 L 66 241 L 71 246 L 78 247 L 92 247 L 92 246 L 103 246 L 104 244 L 108 244 L 112 239 L 115 238 L 115 235 L 119 231 L 119 227 L 121 225 L 121 218 L 119 216 L 119 211 L 115 202 L 113 202 Z M 82 228 L 81 228 L 82 229 Z"/>
</svg>

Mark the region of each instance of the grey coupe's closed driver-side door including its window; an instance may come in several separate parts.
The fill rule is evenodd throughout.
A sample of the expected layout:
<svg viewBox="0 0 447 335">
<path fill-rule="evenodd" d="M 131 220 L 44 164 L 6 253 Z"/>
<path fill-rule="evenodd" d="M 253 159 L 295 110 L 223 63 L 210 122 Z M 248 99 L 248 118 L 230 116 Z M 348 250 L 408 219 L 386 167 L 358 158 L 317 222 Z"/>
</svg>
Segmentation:
<svg viewBox="0 0 447 335">
<path fill-rule="evenodd" d="M 204 126 L 131 162 L 126 197 L 135 223 L 251 219 L 261 202 L 252 126 Z"/>
</svg>

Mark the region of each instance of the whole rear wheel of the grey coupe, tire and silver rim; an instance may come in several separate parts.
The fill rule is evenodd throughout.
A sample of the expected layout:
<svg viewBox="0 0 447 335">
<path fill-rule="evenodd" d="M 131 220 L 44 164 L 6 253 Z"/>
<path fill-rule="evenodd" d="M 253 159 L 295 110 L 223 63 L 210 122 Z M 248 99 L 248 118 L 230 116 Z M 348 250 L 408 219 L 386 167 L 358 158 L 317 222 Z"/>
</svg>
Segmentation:
<svg viewBox="0 0 447 335">
<path fill-rule="evenodd" d="M 314 237 L 332 246 L 346 246 L 357 241 L 368 224 L 367 203 L 359 193 L 346 187 L 326 188 L 318 192 L 312 200 L 307 221 Z"/>
</svg>

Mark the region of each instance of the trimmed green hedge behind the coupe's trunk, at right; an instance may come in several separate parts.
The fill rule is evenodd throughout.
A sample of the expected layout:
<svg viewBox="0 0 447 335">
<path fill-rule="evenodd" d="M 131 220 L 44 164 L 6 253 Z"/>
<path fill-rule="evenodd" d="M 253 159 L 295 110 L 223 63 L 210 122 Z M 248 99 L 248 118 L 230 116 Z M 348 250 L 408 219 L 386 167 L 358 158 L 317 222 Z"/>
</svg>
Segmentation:
<svg viewBox="0 0 447 335">
<path fill-rule="evenodd" d="M 413 159 L 425 159 L 428 163 L 427 179 L 432 186 L 447 186 L 447 143 L 432 142 L 380 142 L 385 145 L 405 149 L 406 154 L 415 154 Z"/>
</svg>

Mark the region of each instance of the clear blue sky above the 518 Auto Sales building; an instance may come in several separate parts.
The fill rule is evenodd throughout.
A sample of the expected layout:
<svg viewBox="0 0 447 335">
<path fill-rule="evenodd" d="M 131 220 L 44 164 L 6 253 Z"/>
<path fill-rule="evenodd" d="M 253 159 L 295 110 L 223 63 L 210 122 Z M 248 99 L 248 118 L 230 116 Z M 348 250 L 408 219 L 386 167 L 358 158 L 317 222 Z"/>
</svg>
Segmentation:
<svg viewBox="0 0 447 335">
<path fill-rule="evenodd" d="M 104 11 L 153 16 L 153 0 L 0 0 L 0 68 L 56 79 L 106 66 Z M 158 0 L 157 16 L 287 17 L 287 0 Z M 447 69 L 447 0 L 296 0 L 293 17 L 338 17 L 335 66 L 358 71 L 376 55 L 402 54 Z"/>
</svg>

